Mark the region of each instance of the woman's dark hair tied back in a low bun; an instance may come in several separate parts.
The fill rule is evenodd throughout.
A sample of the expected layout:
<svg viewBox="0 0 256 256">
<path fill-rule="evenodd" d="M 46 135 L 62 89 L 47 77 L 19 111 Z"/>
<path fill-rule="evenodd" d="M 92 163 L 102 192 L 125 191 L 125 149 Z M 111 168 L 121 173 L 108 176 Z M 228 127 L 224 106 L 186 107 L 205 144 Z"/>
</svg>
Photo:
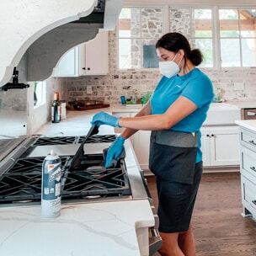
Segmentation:
<svg viewBox="0 0 256 256">
<path fill-rule="evenodd" d="M 184 50 L 184 60 L 189 59 L 195 66 L 200 65 L 203 61 L 203 55 L 199 49 L 193 49 L 191 51 L 189 41 L 177 32 L 172 32 L 163 35 L 159 40 L 157 40 L 156 48 L 162 47 L 168 51 L 178 52 L 179 50 Z"/>
</svg>

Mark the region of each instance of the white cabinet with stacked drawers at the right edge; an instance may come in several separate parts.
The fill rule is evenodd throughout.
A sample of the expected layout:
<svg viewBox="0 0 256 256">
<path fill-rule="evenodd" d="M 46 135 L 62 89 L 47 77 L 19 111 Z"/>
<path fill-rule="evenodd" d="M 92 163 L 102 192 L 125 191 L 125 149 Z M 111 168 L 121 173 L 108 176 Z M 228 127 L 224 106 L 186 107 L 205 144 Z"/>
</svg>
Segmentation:
<svg viewBox="0 0 256 256">
<path fill-rule="evenodd" d="M 243 216 L 256 218 L 256 132 L 241 128 L 240 141 Z"/>
</svg>

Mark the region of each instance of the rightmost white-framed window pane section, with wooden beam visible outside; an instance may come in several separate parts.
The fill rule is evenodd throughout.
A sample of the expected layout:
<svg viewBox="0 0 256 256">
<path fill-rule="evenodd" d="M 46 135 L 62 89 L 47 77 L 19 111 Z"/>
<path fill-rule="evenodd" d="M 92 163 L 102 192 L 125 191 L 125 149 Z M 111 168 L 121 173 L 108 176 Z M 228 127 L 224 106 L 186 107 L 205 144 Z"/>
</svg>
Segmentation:
<svg viewBox="0 0 256 256">
<path fill-rule="evenodd" d="M 220 9 L 221 67 L 255 67 L 256 10 Z"/>
</svg>

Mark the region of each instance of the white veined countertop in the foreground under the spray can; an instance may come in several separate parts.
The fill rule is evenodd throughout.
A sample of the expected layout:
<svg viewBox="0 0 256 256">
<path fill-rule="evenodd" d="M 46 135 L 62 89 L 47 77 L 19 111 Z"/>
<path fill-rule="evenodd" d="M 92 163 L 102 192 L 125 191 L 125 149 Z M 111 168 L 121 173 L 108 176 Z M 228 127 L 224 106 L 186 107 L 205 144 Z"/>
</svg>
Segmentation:
<svg viewBox="0 0 256 256">
<path fill-rule="evenodd" d="M 2 208 L 0 255 L 139 256 L 136 228 L 152 224 L 147 200 L 62 205 L 51 220 L 40 206 Z"/>
</svg>

